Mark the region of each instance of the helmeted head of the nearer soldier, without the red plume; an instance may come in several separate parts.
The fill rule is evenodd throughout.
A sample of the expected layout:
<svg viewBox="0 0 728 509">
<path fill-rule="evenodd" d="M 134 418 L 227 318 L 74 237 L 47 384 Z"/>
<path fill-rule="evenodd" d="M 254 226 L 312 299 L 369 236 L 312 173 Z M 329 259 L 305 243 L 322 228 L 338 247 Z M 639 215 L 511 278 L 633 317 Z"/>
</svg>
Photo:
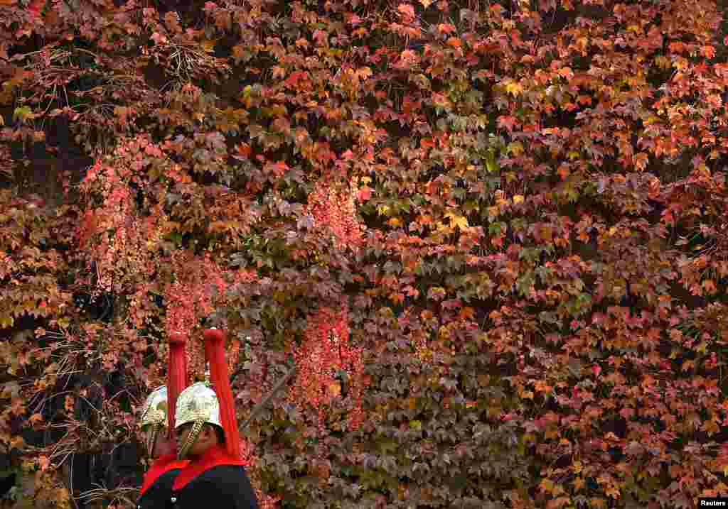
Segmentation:
<svg viewBox="0 0 728 509">
<path fill-rule="evenodd" d="M 207 383 L 198 382 L 180 393 L 175 409 L 178 457 L 198 457 L 225 443 L 220 404 Z"/>
</svg>

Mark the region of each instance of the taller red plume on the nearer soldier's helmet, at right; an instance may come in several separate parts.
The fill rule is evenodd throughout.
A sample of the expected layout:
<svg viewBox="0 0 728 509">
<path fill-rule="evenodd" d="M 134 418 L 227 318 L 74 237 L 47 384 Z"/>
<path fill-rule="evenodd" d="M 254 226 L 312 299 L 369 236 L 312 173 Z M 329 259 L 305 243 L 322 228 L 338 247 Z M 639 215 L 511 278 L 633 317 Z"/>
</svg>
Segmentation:
<svg viewBox="0 0 728 509">
<path fill-rule="evenodd" d="M 205 329 L 205 356 L 210 362 L 210 382 L 220 401 L 220 421 L 225 431 L 227 452 L 240 459 L 240 433 L 235 418 L 235 401 L 230 388 L 230 378 L 225 358 L 225 333 L 219 329 Z"/>
</svg>

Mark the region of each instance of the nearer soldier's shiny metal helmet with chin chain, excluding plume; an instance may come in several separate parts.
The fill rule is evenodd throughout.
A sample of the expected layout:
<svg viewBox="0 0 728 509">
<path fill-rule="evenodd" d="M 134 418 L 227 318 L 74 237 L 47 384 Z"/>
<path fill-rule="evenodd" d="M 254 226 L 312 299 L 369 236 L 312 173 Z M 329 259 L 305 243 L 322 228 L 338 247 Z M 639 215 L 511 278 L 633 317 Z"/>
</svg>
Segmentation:
<svg viewBox="0 0 728 509">
<path fill-rule="evenodd" d="M 222 428 L 220 402 L 207 382 L 197 382 L 183 390 L 177 398 L 175 428 L 193 423 L 193 428 L 178 454 L 183 458 L 199 436 L 202 425 L 213 424 Z"/>
</svg>

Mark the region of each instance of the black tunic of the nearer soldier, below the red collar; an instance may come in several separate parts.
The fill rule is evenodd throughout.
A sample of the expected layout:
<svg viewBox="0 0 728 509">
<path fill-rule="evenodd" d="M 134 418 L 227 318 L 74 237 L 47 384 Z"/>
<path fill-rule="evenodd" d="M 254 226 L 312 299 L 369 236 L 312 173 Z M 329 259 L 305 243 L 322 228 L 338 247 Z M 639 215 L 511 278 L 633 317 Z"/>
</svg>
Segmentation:
<svg viewBox="0 0 728 509">
<path fill-rule="evenodd" d="M 173 490 L 173 509 L 258 509 L 258 501 L 242 465 L 217 465 Z"/>
</svg>

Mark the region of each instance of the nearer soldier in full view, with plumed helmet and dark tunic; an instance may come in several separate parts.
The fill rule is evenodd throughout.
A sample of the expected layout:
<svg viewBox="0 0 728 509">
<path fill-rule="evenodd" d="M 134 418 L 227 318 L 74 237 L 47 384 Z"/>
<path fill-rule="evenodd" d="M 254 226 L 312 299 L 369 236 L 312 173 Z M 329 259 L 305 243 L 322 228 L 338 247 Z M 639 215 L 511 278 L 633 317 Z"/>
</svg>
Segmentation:
<svg viewBox="0 0 728 509">
<path fill-rule="evenodd" d="M 175 509 L 258 509 L 241 460 L 240 435 L 223 346 L 224 334 L 207 329 L 205 357 L 210 381 L 190 385 L 175 408 L 178 457 L 189 465 L 176 476 L 170 502 Z"/>
</svg>

